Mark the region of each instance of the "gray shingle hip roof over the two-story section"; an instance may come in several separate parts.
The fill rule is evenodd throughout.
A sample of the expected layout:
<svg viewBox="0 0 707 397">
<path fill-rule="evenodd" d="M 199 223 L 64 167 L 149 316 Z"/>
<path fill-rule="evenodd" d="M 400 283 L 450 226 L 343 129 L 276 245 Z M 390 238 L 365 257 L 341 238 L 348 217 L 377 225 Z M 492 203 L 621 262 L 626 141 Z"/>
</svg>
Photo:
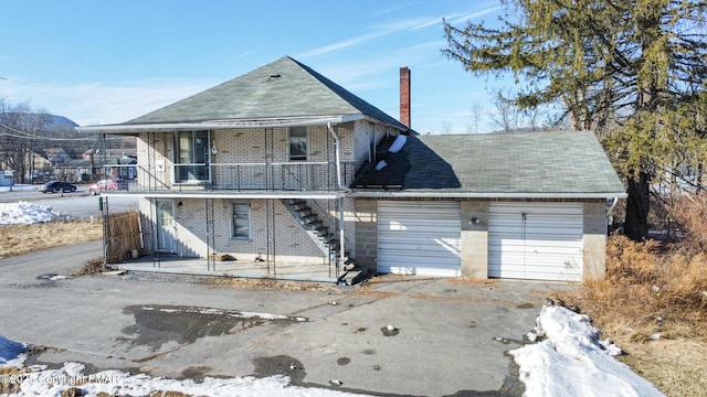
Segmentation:
<svg viewBox="0 0 707 397">
<path fill-rule="evenodd" d="M 349 115 L 363 115 L 407 129 L 377 107 L 285 56 L 124 125 Z"/>
</svg>

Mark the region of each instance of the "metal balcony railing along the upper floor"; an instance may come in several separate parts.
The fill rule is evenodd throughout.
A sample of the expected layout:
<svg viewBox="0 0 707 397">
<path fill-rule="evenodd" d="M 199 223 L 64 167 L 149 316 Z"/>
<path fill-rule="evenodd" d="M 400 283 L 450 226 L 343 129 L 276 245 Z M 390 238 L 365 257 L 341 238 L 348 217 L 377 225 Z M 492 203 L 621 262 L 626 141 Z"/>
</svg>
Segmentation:
<svg viewBox="0 0 707 397">
<path fill-rule="evenodd" d="M 355 164 L 341 163 L 341 181 L 354 181 Z M 173 181 L 173 182 L 170 182 Z M 338 191 L 334 162 L 173 164 L 162 169 L 138 165 L 130 191 Z"/>
</svg>

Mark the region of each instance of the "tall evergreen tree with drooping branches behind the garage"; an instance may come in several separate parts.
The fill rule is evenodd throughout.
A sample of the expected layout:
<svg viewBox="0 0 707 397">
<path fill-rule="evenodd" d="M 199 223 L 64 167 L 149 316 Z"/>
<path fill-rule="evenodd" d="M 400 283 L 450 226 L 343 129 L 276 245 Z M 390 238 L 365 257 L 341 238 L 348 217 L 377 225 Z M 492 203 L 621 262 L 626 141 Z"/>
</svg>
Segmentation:
<svg viewBox="0 0 707 397">
<path fill-rule="evenodd" d="M 498 28 L 445 22 L 443 53 L 477 75 L 511 73 L 520 108 L 559 101 L 573 128 L 594 130 L 626 180 L 625 234 L 643 239 L 652 178 L 707 155 L 707 2 L 502 3 Z"/>
</svg>

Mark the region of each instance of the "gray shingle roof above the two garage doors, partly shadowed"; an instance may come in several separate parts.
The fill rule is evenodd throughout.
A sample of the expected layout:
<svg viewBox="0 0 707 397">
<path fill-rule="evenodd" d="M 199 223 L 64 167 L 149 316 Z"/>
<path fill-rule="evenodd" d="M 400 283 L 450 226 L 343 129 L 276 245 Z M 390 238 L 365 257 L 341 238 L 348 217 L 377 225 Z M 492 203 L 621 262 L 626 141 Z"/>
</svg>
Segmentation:
<svg viewBox="0 0 707 397">
<path fill-rule="evenodd" d="M 486 196 L 622 196 L 625 189 L 591 131 L 409 137 L 355 189 Z"/>
</svg>

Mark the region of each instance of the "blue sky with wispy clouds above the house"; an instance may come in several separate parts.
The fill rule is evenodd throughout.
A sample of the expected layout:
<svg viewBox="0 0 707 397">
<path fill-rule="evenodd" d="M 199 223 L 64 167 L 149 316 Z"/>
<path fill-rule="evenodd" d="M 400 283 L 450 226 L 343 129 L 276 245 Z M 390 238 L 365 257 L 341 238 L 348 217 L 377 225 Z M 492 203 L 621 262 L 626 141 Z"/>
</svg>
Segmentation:
<svg viewBox="0 0 707 397">
<path fill-rule="evenodd" d="M 442 56 L 442 19 L 493 21 L 494 1 L 0 0 L 0 96 L 77 124 L 127 121 L 289 55 L 412 127 L 489 130 L 489 89 Z"/>
</svg>

